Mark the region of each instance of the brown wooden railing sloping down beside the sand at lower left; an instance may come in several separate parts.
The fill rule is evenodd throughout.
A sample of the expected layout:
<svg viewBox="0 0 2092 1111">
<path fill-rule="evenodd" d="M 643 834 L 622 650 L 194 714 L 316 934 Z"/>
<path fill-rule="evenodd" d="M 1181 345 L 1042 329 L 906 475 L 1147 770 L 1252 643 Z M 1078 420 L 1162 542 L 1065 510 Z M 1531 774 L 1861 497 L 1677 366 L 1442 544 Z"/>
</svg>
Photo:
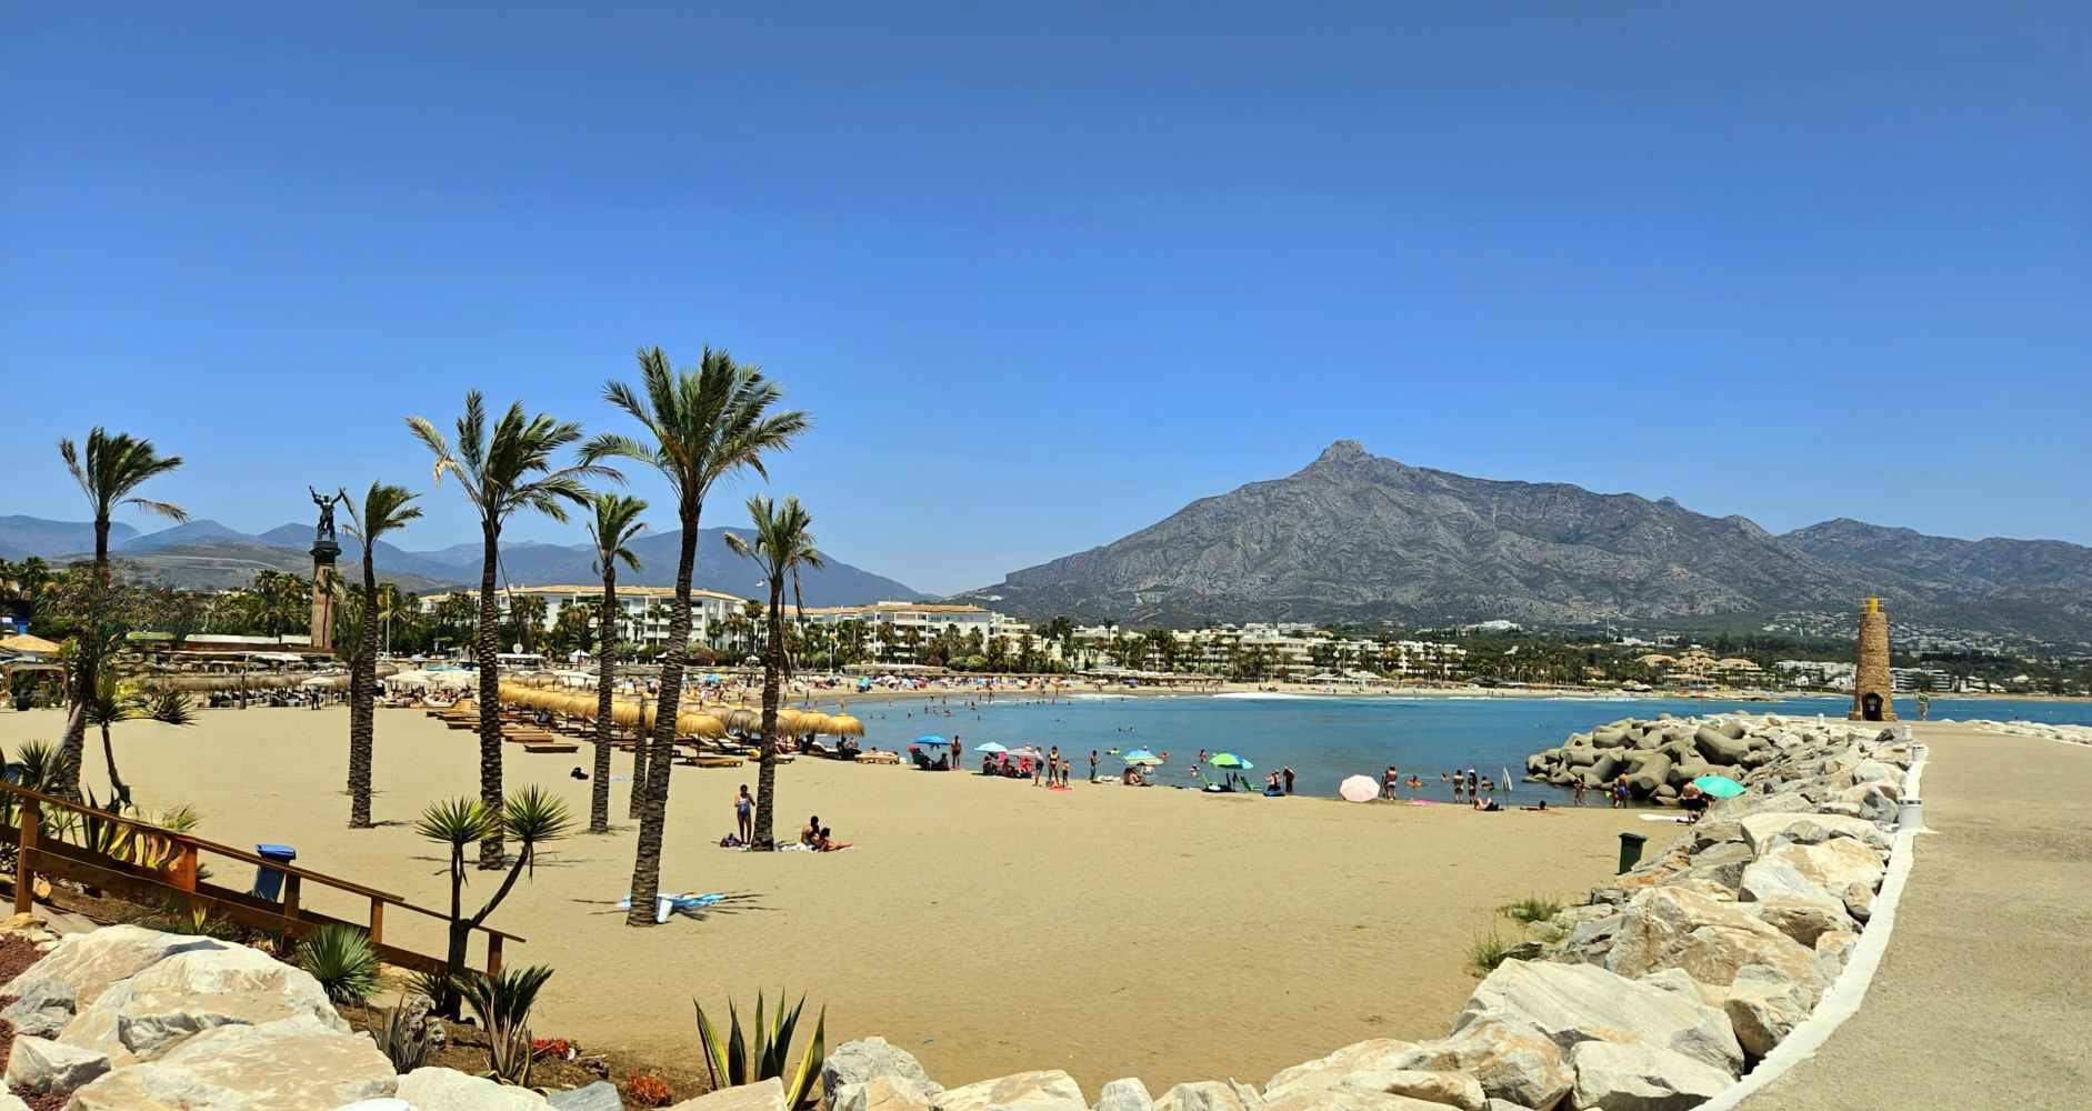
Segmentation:
<svg viewBox="0 0 2092 1111">
<path fill-rule="evenodd" d="M 370 946 L 377 950 L 379 958 L 387 965 L 397 965 L 402 969 L 414 969 L 425 973 L 441 973 L 446 969 L 444 956 L 425 956 L 420 952 L 393 946 L 385 942 L 385 908 L 400 908 L 410 914 L 425 914 L 444 923 L 444 935 L 450 935 L 450 914 L 439 910 L 429 910 L 425 906 L 414 906 L 391 891 L 379 891 L 377 887 L 366 887 L 362 883 L 331 877 L 324 872 L 314 872 L 312 868 L 299 868 L 282 860 L 270 860 L 266 856 L 238 849 L 232 845 L 220 845 L 215 841 L 205 841 L 203 837 L 190 833 L 174 833 L 169 829 L 155 826 L 153 822 L 142 822 L 136 818 L 126 818 L 121 814 L 111 814 L 107 810 L 94 810 L 90 806 L 79 806 L 56 795 L 44 795 L 40 791 L 29 791 L 25 787 L 15 787 L 10 783 L 0 783 L 0 791 L 10 795 L 15 803 L 15 826 L 0 826 L 0 835 L 6 835 L 17 845 L 15 856 L 15 912 L 27 912 L 36 895 L 36 877 L 50 875 L 61 879 L 71 879 L 92 887 L 103 887 L 119 891 L 153 906 L 176 906 L 203 910 L 205 914 L 215 914 L 220 919 L 264 929 L 272 933 L 285 933 L 291 937 L 303 937 L 322 925 L 360 925 L 370 933 Z M 165 864 L 146 866 L 132 860 L 121 860 L 92 847 L 73 845 L 63 839 L 46 841 L 42 837 L 44 814 L 63 812 L 71 814 L 75 829 L 88 829 L 88 822 L 109 822 L 113 826 L 130 829 L 132 839 L 144 845 L 165 849 Z M 268 900 L 251 891 L 238 891 L 232 887 L 220 887 L 199 879 L 199 856 L 218 856 L 226 860 L 236 860 L 241 864 L 251 864 L 255 868 L 272 868 L 282 872 L 282 900 Z M 333 919 L 303 906 L 305 885 L 324 887 L 333 891 L 343 891 L 356 895 L 356 900 L 370 906 L 370 914 L 364 923 L 349 923 L 343 919 Z M 517 942 L 523 937 L 515 933 L 504 933 L 494 927 L 473 927 L 475 933 L 485 935 L 485 969 L 494 975 L 502 967 L 502 944 Z"/>
</svg>

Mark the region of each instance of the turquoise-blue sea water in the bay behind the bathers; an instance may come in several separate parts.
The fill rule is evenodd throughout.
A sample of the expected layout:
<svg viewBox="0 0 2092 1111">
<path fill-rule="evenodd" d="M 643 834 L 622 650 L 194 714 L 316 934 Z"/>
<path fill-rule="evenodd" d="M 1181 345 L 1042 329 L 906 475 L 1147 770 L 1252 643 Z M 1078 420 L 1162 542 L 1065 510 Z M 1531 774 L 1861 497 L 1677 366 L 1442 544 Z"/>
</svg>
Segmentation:
<svg viewBox="0 0 2092 1111">
<path fill-rule="evenodd" d="M 1059 745 L 1069 753 L 1073 776 L 1090 772 L 1090 749 L 1167 751 L 1159 783 L 1192 785 L 1190 764 L 1199 749 L 1232 751 L 1253 762 L 1255 787 L 1264 774 L 1291 766 L 1295 791 L 1333 795 L 1343 776 L 1379 774 L 1389 766 L 1425 778 L 1423 797 L 1450 799 L 1441 772 L 1479 768 L 1485 776 L 1513 780 L 1523 774 L 1527 753 L 1561 745 L 1571 732 L 1615 718 L 1680 718 L 1743 709 L 1843 722 L 1849 697 L 1741 703 L 1715 699 L 1339 699 L 1339 697 L 1113 697 L 1079 695 L 1056 703 L 996 701 L 929 705 L 918 699 L 879 697 L 849 701 L 864 720 L 866 743 L 906 751 L 920 734 L 958 736 L 967 768 L 979 768 L 975 745 L 998 741 L 1006 747 Z M 1897 699 L 1897 713 L 1916 716 L 1916 705 Z M 2040 703 L 1994 699 L 1933 699 L 1933 718 L 2033 720 L 2092 724 L 2088 703 Z M 1117 774 L 1121 764 L 1105 755 L 1100 772 Z M 1207 772 L 1215 774 L 1215 772 Z M 1404 797 L 1410 791 L 1404 791 Z M 1504 801 L 1559 799 L 1567 791 L 1515 783 Z"/>
</svg>

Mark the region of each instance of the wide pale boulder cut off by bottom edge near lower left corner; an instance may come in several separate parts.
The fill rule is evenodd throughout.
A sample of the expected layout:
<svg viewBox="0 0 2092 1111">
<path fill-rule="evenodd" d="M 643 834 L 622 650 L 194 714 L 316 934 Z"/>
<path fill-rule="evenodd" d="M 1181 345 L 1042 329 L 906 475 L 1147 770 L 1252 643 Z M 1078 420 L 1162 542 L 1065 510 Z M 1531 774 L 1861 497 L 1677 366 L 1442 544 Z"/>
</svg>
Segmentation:
<svg viewBox="0 0 2092 1111">
<path fill-rule="evenodd" d="M 441 1071 L 450 1069 L 420 1069 Z M 414 1073 L 418 1075 L 418 1073 Z M 485 1084 L 462 1073 L 460 1080 Z M 395 1092 L 418 1111 L 544 1111 L 533 1103 L 450 1103 L 408 1088 L 391 1061 L 362 1034 L 276 1023 L 222 1025 L 184 1040 L 159 1061 L 115 1069 L 73 1092 L 67 1111 L 305 1111 L 389 1096 Z M 517 1092 L 517 1088 L 502 1088 Z"/>
</svg>

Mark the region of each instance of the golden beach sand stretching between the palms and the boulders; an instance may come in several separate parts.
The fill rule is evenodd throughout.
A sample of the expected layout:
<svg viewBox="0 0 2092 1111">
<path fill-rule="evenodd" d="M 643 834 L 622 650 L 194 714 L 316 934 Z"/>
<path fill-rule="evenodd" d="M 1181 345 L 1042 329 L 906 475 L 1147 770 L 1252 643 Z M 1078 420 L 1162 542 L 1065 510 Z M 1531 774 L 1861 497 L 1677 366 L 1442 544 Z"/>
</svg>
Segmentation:
<svg viewBox="0 0 2092 1111">
<path fill-rule="evenodd" d="M 0 713 L 8 753 L 56 739 L 59 711 Z M 477 741 L 420 711 L 379 709 L 372 831 L 349 831 L 345 709 L 215 709 L 188 728 L 123 722 L 117 762 L 140 806 L 190 803 L 205 837 L 282 841 L 299 864 L 446 906 L 437 852 L 410 822 L 477 793 Z M 506 753 L 506 785 L 540 783 L 588 818 L 573 755 Z M 615 774 L 630 762 L 619 757 Z M 841 854 L 741 854 L 730 799 L 755 768 L 676 768 L 663 891 L 720 891 L 701 921 L 628 929 L 626 785 L 617 831 L 554 845 L 490 925 L 510 962 L 556 969 L 538 1036 L 695 1055 L 690 1000 L 724 1011 L 780 985 L 828 1006 L 828 1044 L 883 1034 L 948 1086 L 1071 1071 L 1094 1096 L 1274 1071 L 1364 1038 L 1437 1038 L 1475 988 L 1466 948 L 1519 925 L 1498 906 L 1575 902 L 1613 875 L 1617 833 L 1661 843 L 1640 812 L 1473 814 L 1446 806 L 1201 797 L 1190 791 L 927 774 L 801 757 L 778 768 L 778 833 L 820 814 Z M 86 783 L 107 793 L 90 732 Z M 209 864 L 209 860 L 205 860 Z M 218 864 L 224 881 L 245 868 Z M 469 900 L 494 883 L 475 872 Z M 358 900 L 308 906 L 362 921 Z M 469 904 L 477 906 L 477 902 Z M 441 952 L 435 921 L 393 912 L 387 939 Z M 475 944 L 475 962 L 479 948 Z"/>
</svg>

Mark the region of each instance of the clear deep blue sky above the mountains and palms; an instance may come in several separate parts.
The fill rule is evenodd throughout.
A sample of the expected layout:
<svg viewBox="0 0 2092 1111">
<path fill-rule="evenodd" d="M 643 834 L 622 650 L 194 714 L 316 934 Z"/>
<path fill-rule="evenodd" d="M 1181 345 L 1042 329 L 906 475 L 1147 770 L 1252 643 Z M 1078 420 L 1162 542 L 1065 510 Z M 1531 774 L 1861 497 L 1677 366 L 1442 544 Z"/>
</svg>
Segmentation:
<svg viewBox="0 0 2092 1111">
<path fill-rule="evenodd" d="M 427 488 L 402 414 L 626 427 L 636 347 L 713 343 L 814 412 L 774 492 L 925 590 L 1337 437 L 2092 542 L 2084 2 L 416 8 L 10 10 L 0 513 L 79 519 L 103 423 L 303 521 Z"/>
</svg>

